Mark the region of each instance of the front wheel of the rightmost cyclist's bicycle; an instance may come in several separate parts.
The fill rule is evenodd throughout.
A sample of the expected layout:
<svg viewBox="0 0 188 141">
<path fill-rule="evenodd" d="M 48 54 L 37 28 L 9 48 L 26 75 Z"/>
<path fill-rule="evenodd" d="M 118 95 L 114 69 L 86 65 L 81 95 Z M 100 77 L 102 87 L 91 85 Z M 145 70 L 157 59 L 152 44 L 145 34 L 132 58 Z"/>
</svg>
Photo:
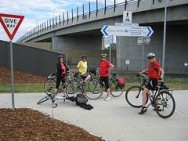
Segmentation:
<svg viewBox="0 0 188 141">
<path fill-rule="evenodd" d="M 140 86 L 130 87 L 125 94 L 125 99 L 134 108 L 142 107 L 142 88 Z"/>
</svg>

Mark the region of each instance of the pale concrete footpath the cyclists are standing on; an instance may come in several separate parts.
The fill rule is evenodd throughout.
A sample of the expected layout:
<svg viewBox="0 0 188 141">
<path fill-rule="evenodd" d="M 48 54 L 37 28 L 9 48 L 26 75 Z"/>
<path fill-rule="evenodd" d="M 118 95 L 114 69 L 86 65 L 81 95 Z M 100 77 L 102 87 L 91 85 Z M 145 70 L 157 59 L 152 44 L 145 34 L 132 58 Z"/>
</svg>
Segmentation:
<svg viewBox="0 0 188 141">
<path fill-rule="evenodd" d="M 174 91 L 176 101 L 174 115 L 160 118 L 152 107 L 145 115 L 140 109 L 130 107 L 125 95 L 104 101 L 89 101 L 94 109 L 85 110 L 71 101 L 58 101 L 52 109 L 51 101 L 37 105 L 44 93 L 15 94 L 16 108 L 32 108 L 56 119 L 84 128 L 106 141 L 187 141 L 188 140 L 188 91 Z M 0 94 L 0 108 L 12 108 L 11 94 Z"/>
</svg>

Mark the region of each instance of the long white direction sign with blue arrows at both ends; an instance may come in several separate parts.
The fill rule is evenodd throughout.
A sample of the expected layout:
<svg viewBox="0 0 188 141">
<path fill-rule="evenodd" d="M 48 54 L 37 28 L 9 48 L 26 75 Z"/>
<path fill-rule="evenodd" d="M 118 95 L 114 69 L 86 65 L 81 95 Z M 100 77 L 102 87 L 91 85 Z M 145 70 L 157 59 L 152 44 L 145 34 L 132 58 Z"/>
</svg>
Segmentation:
<svg viewBox="0 0 188 141">
<path fill-rule="evenodd" d="M 104 36 L 130 36 L 130 37 L 150 37 L 153 30 L 149 26 L 109 26 L 105 25 L 101 32 Z"/>
</svg>

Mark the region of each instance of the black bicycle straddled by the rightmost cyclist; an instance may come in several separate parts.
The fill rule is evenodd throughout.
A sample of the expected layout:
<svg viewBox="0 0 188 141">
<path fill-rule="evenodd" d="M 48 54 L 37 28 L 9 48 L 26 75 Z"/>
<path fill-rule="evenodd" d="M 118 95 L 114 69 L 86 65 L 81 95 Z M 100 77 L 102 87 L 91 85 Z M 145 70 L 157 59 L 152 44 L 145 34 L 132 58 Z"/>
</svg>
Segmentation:
<svg viewBox="0 0 188 141">
<path fill-rule="evenodd" d="M 145 74 L 141 74 L 139 77 L 141 79 L 141 85 L 130 87 L 125 94 L 125 99 L 127 103 L 134 108 L 142 107 L 142 91 L 147 84 L 147 76 Z M 171 93 L 172 90 L 170 90 L 164 84 L 164 81 L 161 81 L 154 92 L 152 92 L 151 90 L 148 92 L 146 107 L 148 108 L 150 105 L 152 105 L 156 113 L 161 118 L 171 117 L 176 107 L 175 99 Z"/>
</svg>

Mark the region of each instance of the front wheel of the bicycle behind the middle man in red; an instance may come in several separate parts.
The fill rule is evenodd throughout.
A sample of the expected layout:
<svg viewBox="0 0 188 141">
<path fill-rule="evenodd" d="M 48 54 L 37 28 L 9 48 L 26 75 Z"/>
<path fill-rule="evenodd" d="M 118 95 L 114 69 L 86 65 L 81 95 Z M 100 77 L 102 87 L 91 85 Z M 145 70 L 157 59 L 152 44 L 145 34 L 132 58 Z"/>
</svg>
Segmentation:
<svg viewBox="0 0 188 141">
<path fill-rule="evenodd" d="M 85 96 L 90 100 L 96 100 L 102 95 L 102 86 L 99 80 L 93 79 L 88 83 L 88 90 L 84 90 Z"/>
</svg>

